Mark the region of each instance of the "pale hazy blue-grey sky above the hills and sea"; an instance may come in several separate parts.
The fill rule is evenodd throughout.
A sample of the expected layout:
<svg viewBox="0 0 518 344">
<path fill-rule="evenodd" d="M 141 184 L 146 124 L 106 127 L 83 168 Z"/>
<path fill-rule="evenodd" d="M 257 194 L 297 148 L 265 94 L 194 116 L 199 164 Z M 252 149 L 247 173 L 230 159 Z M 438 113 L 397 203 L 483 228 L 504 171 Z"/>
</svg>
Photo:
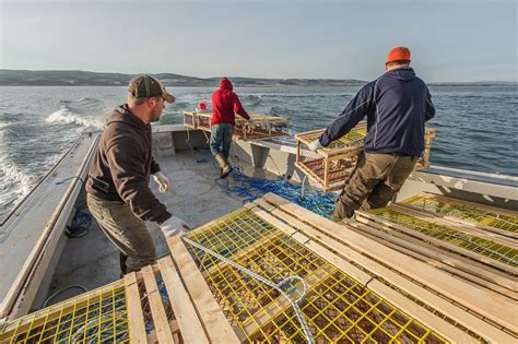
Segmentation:
<svg viewBox="0 0 518 344">
<path fill-rule="evenodd" d="M 373 80 L 408 46 L 428 82 L 517 81 L 516 0 L 0 0 L 0 68 Z"/>
</svg>

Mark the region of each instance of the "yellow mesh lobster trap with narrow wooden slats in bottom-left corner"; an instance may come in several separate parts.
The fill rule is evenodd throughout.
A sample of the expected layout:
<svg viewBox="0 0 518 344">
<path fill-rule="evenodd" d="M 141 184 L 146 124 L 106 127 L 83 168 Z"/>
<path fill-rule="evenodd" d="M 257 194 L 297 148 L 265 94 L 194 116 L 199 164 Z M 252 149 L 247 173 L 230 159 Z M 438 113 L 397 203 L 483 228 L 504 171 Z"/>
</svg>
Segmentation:
<svg viewBox="0 0 518 344">
<path fill-rule="evenodd" d="M 137 315 L 145 342 L 154 343 L 160 328 L 170 328 L 172 340 L 178 331 L 156 265 L 10 321 L 0 327 L 0 343 L 130 343 Z"/>
</svg>

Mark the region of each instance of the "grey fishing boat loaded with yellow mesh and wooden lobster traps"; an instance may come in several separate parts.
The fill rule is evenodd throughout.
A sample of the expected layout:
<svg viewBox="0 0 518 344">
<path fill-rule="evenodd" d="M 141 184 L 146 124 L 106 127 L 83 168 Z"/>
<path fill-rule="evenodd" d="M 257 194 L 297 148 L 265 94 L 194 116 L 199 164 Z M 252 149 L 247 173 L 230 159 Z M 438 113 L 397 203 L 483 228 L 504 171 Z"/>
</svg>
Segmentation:
<svg viewBox="0 0 518 344">
<path fill-rule="evenodd" d="M 1 224 L 1 343 L 518 341 L 517 177 L 431 165 L 333 223 L 275 192 L 325 197 L 293 144 L 236 139 L 221 180 L 203 131 L 154 126 L 172 190 L 151 187 L 195 229 L 166 241 L 149 224 L 158 262 L 120 278 L 95 221 L 66 235 L 98 140 L 83 133 Z M 234 192 L 259 180 L 274 192 Z"/>
</svg>

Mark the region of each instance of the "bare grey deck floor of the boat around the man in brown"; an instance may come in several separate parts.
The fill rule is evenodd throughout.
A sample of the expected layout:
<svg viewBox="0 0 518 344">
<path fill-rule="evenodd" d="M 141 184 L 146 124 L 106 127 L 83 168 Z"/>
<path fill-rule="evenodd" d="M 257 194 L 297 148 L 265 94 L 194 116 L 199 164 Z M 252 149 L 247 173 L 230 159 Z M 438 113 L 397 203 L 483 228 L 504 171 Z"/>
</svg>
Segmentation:
<svg viewBox="0 0 518 344">
<path fill-rule="evenodd" d="M 243 199 L 225 191 L 223 187 L 226 186 L 226 181 L 220 180 L 216 183 L 219 168 L 212 159 L 197 163 L 196 158 L 201 155 L 195 154 L 196 157 L 190 151 L 179 151 L 174 155 L 155 154 L 156 162 L 169 178 L 170 190 L 167 193 L 160 193 L 157 185 L 153 181 L 151 188 L 175 216 L 185 220 L 192 227 L 198 227 L 242 206 Z M 209 157 L 207 151 L 203 151 L 203 157 Z M 242 163 L 242 167 L 248 176 L 275 178 L 273 174 L 254 168 L 246 163 Z M 232 178 L 227 180 L 232 186 Z M 169 249 L 158 226 L 148 223 L 148 228 L 155 241 L 157 256 L 167 254 Z M 68 240 L 56 269 L 49 295 L 62 287 L 76 284 L 91 290 L 119 277 L 118 250 L 93 221 L 89 235 Z M 52 299 L 51 304 L 76 294 L 78 289 L 63 292 Z"/>
</svg>

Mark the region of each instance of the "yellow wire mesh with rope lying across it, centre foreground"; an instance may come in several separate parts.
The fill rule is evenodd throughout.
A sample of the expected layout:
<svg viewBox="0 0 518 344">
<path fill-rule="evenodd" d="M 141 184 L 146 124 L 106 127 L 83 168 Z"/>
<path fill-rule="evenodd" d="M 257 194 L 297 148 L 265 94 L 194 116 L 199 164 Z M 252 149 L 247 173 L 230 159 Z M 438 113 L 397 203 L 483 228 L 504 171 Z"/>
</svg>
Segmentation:
<svg viewBox="0 0 518 344">
<path fill-rule="evenodd" d="M 317 343 L 443 343 L 433 330 L 243 207 L 188 235 L 242 266 L 274 282 L 299 276 L 299 304 Z M 215 299 L 247 342 L 306 341 L 295 311 L 274 288 L 203 250 L 189 246 Z M 299 290 L 301 283 L 285 286 Z"/>
</svg>

